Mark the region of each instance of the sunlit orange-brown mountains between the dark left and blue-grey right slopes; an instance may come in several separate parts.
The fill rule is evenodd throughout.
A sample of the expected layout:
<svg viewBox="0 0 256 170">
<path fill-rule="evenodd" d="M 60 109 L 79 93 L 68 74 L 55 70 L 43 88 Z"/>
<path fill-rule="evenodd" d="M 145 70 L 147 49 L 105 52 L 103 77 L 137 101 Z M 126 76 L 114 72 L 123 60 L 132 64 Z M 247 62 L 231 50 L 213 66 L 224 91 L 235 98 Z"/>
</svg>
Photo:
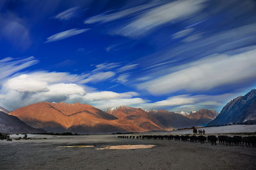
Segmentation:
<svg viewBox="0 0 256 170">
<path fill-rule="evenodd" d="M 88 104 L 65 104 L 40 102 L 10 112 L 24 123 L 47 132 L 74 132 L 78 134 L 113 132 L 148 132 L 172 130 L 198 126 L 208 123 L 212 112 L 204 110 L 190 114 L 186 118 L 181 114 L 164 110 L 144 111 L 133 107 L 121 106 L 109 108 L 106 112 Z M 211 114 L 209 114 L 211 113 Z M 193 115 L 196 116 L 193 116 Z M 201 116 L 198 116 L 202 114 Z M 212 118 L 213 120 L 214 118 Z"/>
</svg>

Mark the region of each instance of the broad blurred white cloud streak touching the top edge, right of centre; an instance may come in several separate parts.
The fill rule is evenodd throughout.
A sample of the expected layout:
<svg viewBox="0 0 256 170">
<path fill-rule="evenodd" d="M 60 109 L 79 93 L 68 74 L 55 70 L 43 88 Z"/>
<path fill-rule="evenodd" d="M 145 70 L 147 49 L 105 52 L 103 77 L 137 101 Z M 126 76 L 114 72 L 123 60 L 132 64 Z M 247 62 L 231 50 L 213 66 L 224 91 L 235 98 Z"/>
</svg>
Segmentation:
<svg viewBox="0 0 256 170">
<path fill-rule="evenodd" d="M 204 8 L 204 1 L 175 1 L 152 8 L 138 15 L 126 26 L 116 29 L 114 34 L 123 36 L 141 36 L 152 29 L 171 21 L 186 19 Z"/>
</svg>

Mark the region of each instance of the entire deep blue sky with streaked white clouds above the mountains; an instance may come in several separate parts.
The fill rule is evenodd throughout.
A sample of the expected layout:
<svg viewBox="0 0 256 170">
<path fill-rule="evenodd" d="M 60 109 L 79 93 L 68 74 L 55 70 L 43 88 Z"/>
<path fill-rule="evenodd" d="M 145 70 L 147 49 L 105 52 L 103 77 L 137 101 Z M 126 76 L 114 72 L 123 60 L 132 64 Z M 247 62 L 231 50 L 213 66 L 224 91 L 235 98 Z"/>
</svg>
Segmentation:
<svg viewBox="0 0 256 170">
<path fill-rule="evenodd" d="M 0 1 L 0 105 L 218 112 L 256 88 L 256 1 Z"/>
</svg>

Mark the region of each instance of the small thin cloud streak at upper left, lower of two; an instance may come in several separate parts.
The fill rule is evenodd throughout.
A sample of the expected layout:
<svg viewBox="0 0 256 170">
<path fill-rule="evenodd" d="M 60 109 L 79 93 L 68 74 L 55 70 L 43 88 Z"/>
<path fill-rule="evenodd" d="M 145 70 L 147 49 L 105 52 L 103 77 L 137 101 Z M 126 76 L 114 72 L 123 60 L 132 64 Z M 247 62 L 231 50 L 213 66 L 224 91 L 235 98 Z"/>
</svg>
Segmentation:
<svg viewBox="0 0 256 170">
<path fill-rule="evenodd" d="M 52 35 L 47 38 L 46 42 L 56 42 L 58 40 L 63 40 L 65 38 L 68 38 L 70 36 L 79 35 L 81 33 L 84 33 L 85 31 L 88 31 L 89 29 L 68 29 L 67 31 L 63 31 L 60 33 L 56 33 L 55 35 Z"/>
</svg>

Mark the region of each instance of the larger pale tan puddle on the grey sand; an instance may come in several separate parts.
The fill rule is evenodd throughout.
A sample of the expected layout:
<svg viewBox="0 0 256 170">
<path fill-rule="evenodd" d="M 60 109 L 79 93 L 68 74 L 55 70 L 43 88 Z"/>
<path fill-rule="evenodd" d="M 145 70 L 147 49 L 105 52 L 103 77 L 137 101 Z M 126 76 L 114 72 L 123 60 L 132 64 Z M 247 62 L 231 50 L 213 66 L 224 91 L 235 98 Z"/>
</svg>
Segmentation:
<svg viewBox="0 0 256 170">
<path fill-rule="evenodd" d="M 116 146 L 105 146 L 104 148 L 96 148 L 95 150 L 137 150 L 145 148 L 153 148 L 154 144 L 127 144 Z"/>
</svg>

